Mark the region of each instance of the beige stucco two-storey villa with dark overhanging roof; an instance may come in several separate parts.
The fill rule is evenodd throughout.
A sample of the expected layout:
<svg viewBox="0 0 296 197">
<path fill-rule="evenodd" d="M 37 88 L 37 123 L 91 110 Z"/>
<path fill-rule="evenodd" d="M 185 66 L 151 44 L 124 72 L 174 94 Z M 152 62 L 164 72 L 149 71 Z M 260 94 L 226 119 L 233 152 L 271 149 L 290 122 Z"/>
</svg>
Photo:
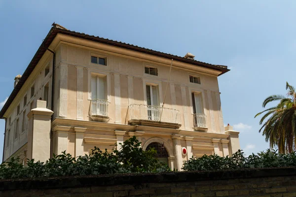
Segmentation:
<svg viewBox="0 0 296 197">
<path fill-rule="evenodd" d="M 239 132 L 224 128 L 218 86 L 227 71 L 53 24 L 0 111 L 3 161 L 77 157 L 133 135 L 179 170 L 192 156 L 231 155 Z"/>
</svg>

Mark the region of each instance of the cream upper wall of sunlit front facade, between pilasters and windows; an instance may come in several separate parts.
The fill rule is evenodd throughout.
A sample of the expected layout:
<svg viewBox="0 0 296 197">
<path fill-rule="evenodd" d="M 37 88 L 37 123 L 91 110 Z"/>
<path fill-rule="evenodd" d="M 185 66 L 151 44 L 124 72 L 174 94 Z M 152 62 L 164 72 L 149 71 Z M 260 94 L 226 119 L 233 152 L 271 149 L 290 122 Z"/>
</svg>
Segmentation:
<svg viewBox="0 0 296 197">
<path fill-rule="evenodd" d="M 134 103 L 144 104 L 144 84 L 146 81 L 160 83 L 161 94 L 163 102 L 169 67 L 161 66 L 157 64 L 146 63 L 144 61 L 137 61 L 133 59 L 128 59 L 125 57 L 119 57 L 115 55 L 110 55 L 104 52 L 98 52 L 93 50 L 88 50 L 84 48 L 74 47 L 66 44 L 61 44 L 59 46 L 59 51 L 61 51 L 59 57 L 64 63 L 68 64 L 68 98 L 67 98 L 67 118 L 76 119 L 76 87 L 77 87 L 77 68 L 75 66 L 83 66 L 83 120 L 89 119 L 89 76 L 90 73 L 102 73 L 106 74 L 107 77 L 110 77 L 110 81 L 107 80 L 107 86 L 110 86 L 110 105 L 109 105 L 109 117 L 111 120 L 109 123 L 115 122 L 115 87 L 114 87 L 114 74 L 120 74 L 120 120 L 121 124 L 126 123 L 126 115 L 128 108 L 128 79 L 127 76 L 133 76 L 133 94 L 134 94 Z M 95 65 L 90 63 L 91 54 L 100 55 L 107 57 L 107 66 Z M 158 76 L 148 75 L 144 73 L 145 66 L 155 66 L 158 69 Z M 189 83 L 189 74 L 199 76 L 201 78 L 201 84 Z M 195 73 L 194 70 L 190 72 L 185 70 L 180 70 L 172 68 L 171 71 L 171 80 L 170 83 L 175 84 L 175 93 L 176 93 L 176 102 L 177 109 L 181 112 L 181 128 L 182 130 L 193 131 L 193 110 L 192 110 L 192 91 L 200 91 L 204 98 L 204 105 L 207 114 L 207 124 L 208 132 L 212 132 L 212 119 L 209 111 L 208 104 L 208 94 L 204 90 L 213 91 L 210 93 L 212 97 L 212 106 L 213 106 L 213 121 L 215 122 L 215 132 L 221 133 L 219 116 L 218 116 L 218 103 L 216 98 L 216 93 L 219 92 L 218 80 L 217 77 L 202 75 L 200 73 Z M 187 114 L 184 118 L 184 109 L 182 101 L 182 91 L 181 86 L 185 86 L 185 102 Z M 165 101 L 165 107 L 172 107 L 172 100 L 170 95 L 170 86 L 168 87 L 167 97 Z M 185 121 L 188 121 L 188 128 L 185 128 Z"/>
</svg>

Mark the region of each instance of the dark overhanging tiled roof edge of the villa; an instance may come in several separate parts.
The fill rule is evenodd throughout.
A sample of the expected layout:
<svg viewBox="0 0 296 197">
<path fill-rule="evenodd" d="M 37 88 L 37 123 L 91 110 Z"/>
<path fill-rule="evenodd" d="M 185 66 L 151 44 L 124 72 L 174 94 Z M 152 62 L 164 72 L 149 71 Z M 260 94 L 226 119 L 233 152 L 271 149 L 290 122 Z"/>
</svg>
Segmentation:
<svg viewBox="0 0 296 197">
<path fill-rule="evenodd" d="M 90 40 L 90 41 L 94 41 L 94 42 L 99 42 L 99 43 L 103 43 L 103 44 L 107 44 L 107 45 L 111 45 L 111 46 L 115 46 L 115 47 L 120 47 L 120 48 L 124 48 L 124 49 L 128 49 L 128 50 L 132 50 L 132 51 L 137 51 L 137 52 L 141 52 L 141 53 L 145 53 L 145 54 L 149 54 L 149 55 L 153 55 L 153 56 L 157 56 L 157 57 L 167 58 L 167 59 L 170 59 L 170 60 L 174 59 L 174 61 L 179 61 L 179 62 L 183 62 L 183 63 L 195 65 L 195 66 L 202 66 L 202 67 L 206 67 L 206 68 L 210 68 L 210 69 L 214 69 L 214 70 L 219 70 L 219 71 L 222 72 L 221 74 L 229 71 L 229 69 L 227 69 L 227 66 L 212 65 L 212 64 L 208 64 L 208 63 L 204 63 L 204 62 L 199 62 L 199 61 L 196 61 L 196 60 L 189 60 L 189 59 L 186 59 L 186 58 L 183 58 L 183 57 L 180 57 L 180 56 L 171 55 L 171 54 L 167 54 L 167 53 L 162 53 L 162 52 L 159 52 L 159 51 L 154 51 L 154 50 L 139 47 L 139 46 L 136 46 L 136 45 L 127 44 L 127 43 L 124 43 L 124 42 L 119 42 L 119 41 L 115 41 L 115 40 L 102 38 L 102 37 L 99 37 L 99 36 L 94 36 L 94 35 L 88 35 L 88 34 L 85 34 L 85 33 L 78 33 L 78 32 L 74 32 L 74 31 L 69 31 L 69 30 L 66 30 L 66 29 L 58 28 L 58 27 L 59 26 L 53 24 L 53 27 L 50 29 L 49 33 L 46 35 L 45 39 L 43 40 L 43 42 L 39 46 L 36 54 L 34 55 L 33 59 L 31 60 L 31 62 L 29 64 L 29 66 L 26 68 L 25 72 L 23 73 L 20 81 L 15 86 L 12 93 L 8 97 L 6 103 L 2 107 L 2 109 L 0 111 L 0 118 L 3 118 L 3 115 L 6 112 L 6 110 L 8 109 L 9 105 L 12 103 L 13 99 L 16 97 L 16 95 L 18 94 L 18 92 L 20 91 L 20 89 L 22 88 L 22 86 L 24 85 L 24 83 L 26 82 L 28 77 L 30 76 L 31 72 L 36 67 L 39 60 L 41 59 L 41 57 L 45 53 L 46 49 L 49 47 L 49 45 L 51 44 L 51 42 L 53 41 L 53 39 L 55 38 L 55 36 L 58 33 L 65 34 L 65 35 L 70 35 L 70 36 L 74 36 L 74 37 L 77 37 L 77 38 L 82 38 L 82 39 L 86 39 L 86 40 Z"/>
</svg>

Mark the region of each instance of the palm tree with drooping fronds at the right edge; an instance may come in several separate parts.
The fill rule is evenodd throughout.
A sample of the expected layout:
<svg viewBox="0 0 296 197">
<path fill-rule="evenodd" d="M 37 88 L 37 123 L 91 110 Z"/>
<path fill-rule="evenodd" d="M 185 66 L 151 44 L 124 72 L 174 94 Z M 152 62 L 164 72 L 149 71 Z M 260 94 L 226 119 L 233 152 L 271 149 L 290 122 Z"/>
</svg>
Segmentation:
<svg viewBox="0 0 296 197">
<path fill-rule="evenodd" d="M 265 113 L 259 122 L 262 125 L 259 132 L 262 131 L 262 135 L 265 135 L 270 148 L 277 146 L 280 153 L 291 153 L 296 150 L 296 92 L 288 82 L 286 90 L 288 90 L 287 97 L 283 95 L 267 97 L 262 104 L 264 108 L 269 102 L 279 100 L 279 103 L 255 116 L 256 118 Z"/>
</svg>

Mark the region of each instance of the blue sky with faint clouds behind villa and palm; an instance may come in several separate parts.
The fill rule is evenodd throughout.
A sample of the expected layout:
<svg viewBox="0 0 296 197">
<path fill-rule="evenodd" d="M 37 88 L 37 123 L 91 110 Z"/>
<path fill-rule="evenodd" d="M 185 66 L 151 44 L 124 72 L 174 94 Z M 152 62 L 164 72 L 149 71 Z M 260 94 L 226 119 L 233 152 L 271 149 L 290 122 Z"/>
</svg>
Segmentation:
<svg viewBox="0 0 296 197">
<path fill-rule="evenodd" d="M 296 1 L 286 0 L 0 0 L 0 107 L 56 22 L 211 64 L 219 77 L 224 124 L 240 133 L 247 154 L 268 148 L 255 114 L 263 99 L 296 86 Z M 293 69 L 294 68 L 294 69 Z M 0 120 L 0 133 L 4 121 Z M 0 134 L 0 160 L 3 134 Z"/>
</svg>

